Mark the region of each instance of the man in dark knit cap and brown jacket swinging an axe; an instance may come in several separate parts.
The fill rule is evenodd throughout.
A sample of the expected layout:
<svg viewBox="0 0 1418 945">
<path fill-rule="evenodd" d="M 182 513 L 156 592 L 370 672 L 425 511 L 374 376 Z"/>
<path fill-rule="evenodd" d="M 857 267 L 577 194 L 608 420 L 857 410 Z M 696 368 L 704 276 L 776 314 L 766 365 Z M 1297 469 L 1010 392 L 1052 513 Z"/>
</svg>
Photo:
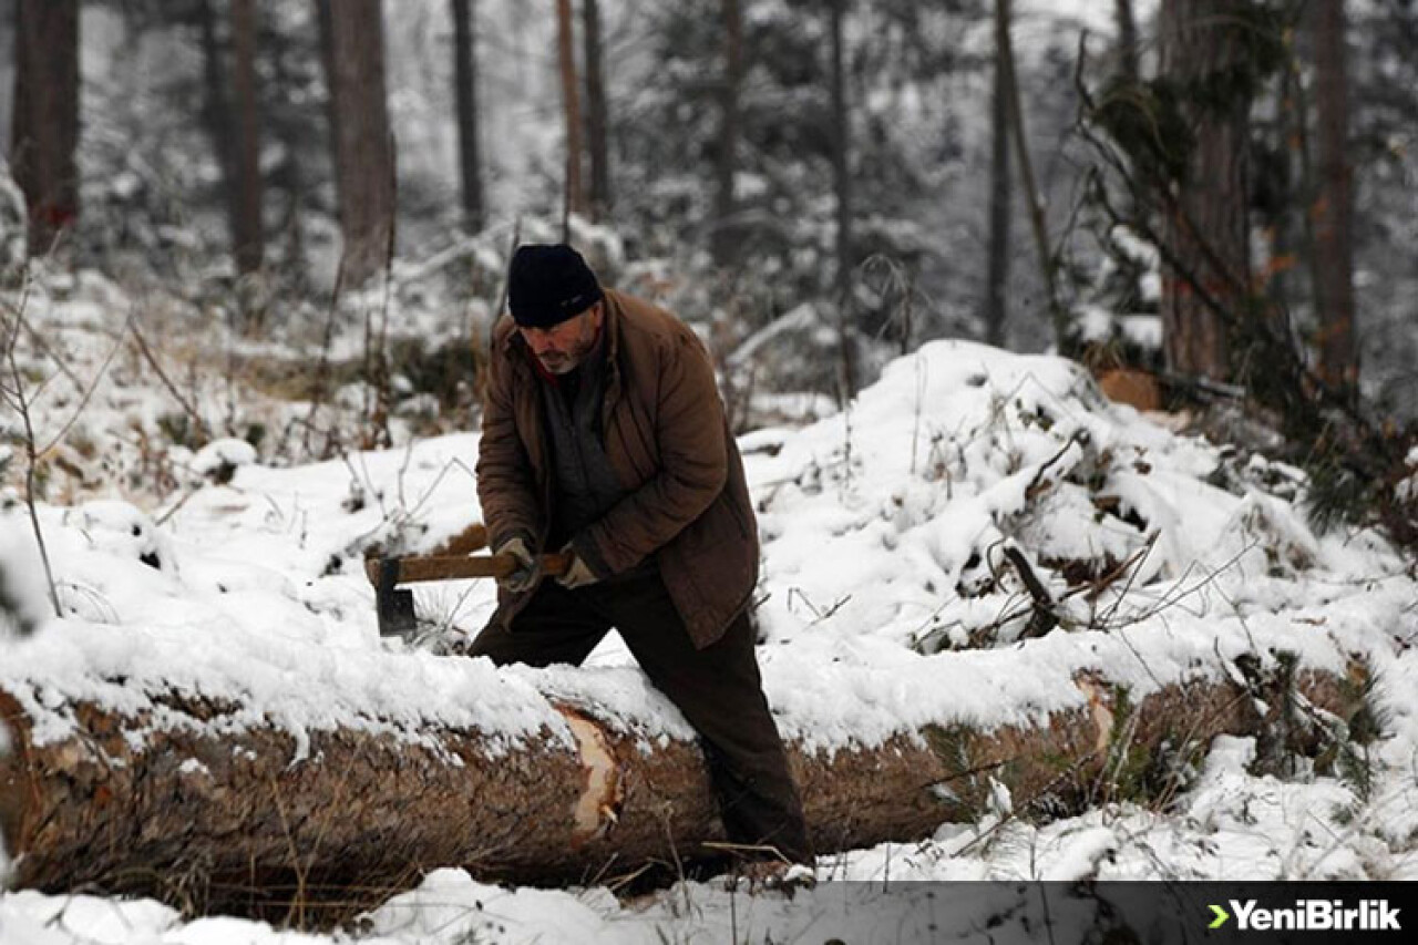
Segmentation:
<svg viewBox="0 0 1418 945">
<path fill-rule="evenodd" d="M 699 732 L 730 841 L 811 861 L 753 651 L 757 525 L 708 352 L 569 245 L 520 247 L 508 306 L 478 498 L 489 543 L 522 568 L 469 654 L 579 665 L 615 627 Z M 547 549 L 573 555 L 564 576 L 540 573 Z"/>
</svg>

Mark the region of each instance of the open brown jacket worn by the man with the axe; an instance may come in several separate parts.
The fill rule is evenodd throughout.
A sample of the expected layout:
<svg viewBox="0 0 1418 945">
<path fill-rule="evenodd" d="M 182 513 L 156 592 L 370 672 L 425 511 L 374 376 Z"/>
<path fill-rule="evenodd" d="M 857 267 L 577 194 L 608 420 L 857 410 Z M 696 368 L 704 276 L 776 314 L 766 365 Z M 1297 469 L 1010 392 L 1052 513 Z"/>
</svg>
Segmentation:
<svg viewBox="0 0 1418 945">
<path fill-rule="evenodd" d="M 628 490 L 577 535 L 613 573 L 654 555 L 696 647 L 718 640 L 747 604 L 759 534 L 713 365 L 683 322 L 649 302 L 605 291 L 605 453 Z M 478 454 L 478 498 L 493 548 L 550 525 L 552 457 L 546 383 L 510 318 L 493 329 Z M 498 595 L 510 624 L 530 595 Z"/>
</svg>

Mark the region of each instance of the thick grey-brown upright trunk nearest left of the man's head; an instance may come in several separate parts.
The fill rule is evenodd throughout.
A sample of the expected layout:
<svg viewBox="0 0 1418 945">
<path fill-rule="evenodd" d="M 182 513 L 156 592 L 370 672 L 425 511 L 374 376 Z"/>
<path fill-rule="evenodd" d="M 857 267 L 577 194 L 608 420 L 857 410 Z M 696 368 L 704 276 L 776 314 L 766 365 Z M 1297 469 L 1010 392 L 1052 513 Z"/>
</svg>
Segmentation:
<svg viewBox="0 0 1418 945">
<path fill-rule="evenodd" d="M 380 0 L 319 0 L 329 23 L 326 81 L 333 118 L 345 285 L 383 267 L 394 238 L 394 143 L 384 98 Z"/>
</svg>

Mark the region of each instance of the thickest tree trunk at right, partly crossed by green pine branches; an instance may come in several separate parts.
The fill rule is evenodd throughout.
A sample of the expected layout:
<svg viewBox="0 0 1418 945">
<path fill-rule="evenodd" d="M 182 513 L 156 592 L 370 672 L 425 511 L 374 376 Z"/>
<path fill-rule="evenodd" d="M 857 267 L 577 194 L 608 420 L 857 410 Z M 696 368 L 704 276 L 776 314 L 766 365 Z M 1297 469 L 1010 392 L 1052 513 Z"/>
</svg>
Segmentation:
<svg viewBox="0 0 1418 945">
<path fill-rule="evenodd" d="M 1183 88 L 1204 82 L 1245 55 L 1227 0 L 1164 0 L 1163 72 Z M 1163 275 L 1163 353 L 1167 368 L 1229 380 L 1224 316 L 1246 315 L 1249 254 L 1246 199 L 1249 101 L 1187 108 L 1194 146 L 1166 221 L 1173 265 Z"/>
</svg>

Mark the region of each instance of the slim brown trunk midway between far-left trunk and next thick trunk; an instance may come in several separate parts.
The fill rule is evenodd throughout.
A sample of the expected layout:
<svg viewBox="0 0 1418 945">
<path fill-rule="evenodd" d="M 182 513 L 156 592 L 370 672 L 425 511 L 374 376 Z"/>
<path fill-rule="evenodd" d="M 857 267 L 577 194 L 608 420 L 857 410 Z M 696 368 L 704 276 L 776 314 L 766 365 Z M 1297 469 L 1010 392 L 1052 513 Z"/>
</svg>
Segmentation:
<svg viewBox="0 0 1418 945">
<path fill-rule="evenodd" d="M 231 0 L 231 88 L 235 149 L 231 187 L 231 237 L 237 271 L 261 270 L 265 238 L 261 227 L 261 123 L 257 106 L 257 7 Z"/>
</svg>

